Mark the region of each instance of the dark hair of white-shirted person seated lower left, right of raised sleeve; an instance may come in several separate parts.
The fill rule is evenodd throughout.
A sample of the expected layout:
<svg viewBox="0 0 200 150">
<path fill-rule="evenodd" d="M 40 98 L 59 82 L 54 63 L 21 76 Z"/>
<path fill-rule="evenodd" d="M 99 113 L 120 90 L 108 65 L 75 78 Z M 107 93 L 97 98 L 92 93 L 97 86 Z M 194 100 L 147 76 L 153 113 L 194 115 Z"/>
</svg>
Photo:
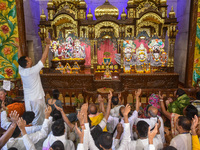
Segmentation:
<svg viewBox="0 0 200 150">
<path fill-rule="evenodd" d="M 65 132 L 65 125 L 63 119 L 56 120 L 51 126 L 54 136 L 62 136 Z"/>
</svg>

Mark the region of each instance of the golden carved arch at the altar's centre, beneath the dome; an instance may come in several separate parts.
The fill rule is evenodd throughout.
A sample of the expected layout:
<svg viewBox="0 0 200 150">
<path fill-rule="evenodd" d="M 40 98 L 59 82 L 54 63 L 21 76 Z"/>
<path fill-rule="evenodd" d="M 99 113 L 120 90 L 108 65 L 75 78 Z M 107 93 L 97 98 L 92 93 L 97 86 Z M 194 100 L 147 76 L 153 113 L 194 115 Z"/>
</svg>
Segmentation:
<svg viewBox="0 0 200 150">
<path fill-rule="evenodd" d="M 95 25 L 95 37 L 98 38 L 101 34 L 101 28 L 105 26 L 105 27 L 108 27 L 108 26 L 111 26 L 113 27 L 114 29 L 114 35 L 116 38 L 119 37 L 119 25 L 114 23 L 114 22 L 111 22 L 111 21 L 104 21 L 104 22 L 101 22 L 101 23 L 98 23 L 97 25 Z"/>
</svg>

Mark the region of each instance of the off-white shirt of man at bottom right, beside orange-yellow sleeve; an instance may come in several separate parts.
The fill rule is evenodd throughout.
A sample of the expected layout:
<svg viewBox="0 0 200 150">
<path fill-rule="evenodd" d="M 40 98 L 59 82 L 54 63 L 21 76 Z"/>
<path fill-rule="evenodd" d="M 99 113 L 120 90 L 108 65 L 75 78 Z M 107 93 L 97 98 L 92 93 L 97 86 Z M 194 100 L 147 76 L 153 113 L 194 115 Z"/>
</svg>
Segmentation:
<svg viewBox="0 0 200 150">
<path fill-rule="evenodd" d="M 171 140 L 170 146 L 175 147 L 177 150 L 192 150 L 191 134 L 178 134 Z"/>
</svg>

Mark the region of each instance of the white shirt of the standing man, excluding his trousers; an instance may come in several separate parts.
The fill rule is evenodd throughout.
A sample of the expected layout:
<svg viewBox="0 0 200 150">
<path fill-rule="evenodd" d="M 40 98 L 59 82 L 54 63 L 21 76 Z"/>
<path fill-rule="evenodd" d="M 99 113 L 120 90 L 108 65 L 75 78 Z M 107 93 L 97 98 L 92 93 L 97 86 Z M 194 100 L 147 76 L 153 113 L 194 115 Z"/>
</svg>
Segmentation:
<svg viewBox="0 0 200 150">
<path fill-rule="evenodd" d="M 40 79 L 40 70 L 44 67 L 41 60 L 31 68 L 22 68 L 19 65 L 19 74 L 23 82 L 25 101 L 36 101 L 44 97 L 44 90 Z"/>
</svg>

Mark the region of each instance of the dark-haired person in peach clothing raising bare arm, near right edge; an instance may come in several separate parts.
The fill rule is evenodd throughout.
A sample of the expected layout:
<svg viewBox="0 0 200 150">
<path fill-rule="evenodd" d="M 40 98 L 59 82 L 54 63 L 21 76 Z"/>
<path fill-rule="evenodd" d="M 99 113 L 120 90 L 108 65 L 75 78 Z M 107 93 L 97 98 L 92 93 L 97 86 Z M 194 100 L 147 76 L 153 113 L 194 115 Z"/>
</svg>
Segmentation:
<svg viewBox="0 0 200 150">
<path fill-rule="evenodd" d="M 170 120 L 170 124 L 171 124 L 171 135 L 172 137 L 175 137 L 178 132 L 176 130 L 176 122 L 178 117 L 180 116 L 179 114 L 176 113 L 170 113 L 166 110 L 165 108 L 165 104 L 163 101 L 164 96 L 161 95 L 161 93 L 159 94 L 160 96 L 160 104 L 161 104 L 161 110 L 162 113 Z M 195 115 L 198 115 L 198 110 L 193 106 L 193 105 L 187 105 L 184 109 L 182 114 L 184 114 L 186 117 L 188 117 L 190 120 L 192 120 L 192 118 Z"/>
</svg>

